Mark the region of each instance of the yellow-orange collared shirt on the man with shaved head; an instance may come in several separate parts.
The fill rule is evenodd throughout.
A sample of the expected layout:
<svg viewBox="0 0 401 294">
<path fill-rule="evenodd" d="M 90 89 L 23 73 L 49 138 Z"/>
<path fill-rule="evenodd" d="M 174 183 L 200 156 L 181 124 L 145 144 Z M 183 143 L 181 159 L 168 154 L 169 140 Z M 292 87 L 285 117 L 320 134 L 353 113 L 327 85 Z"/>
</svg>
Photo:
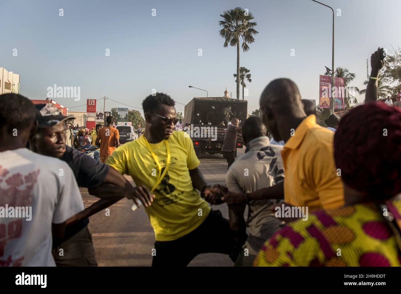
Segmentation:
<svg viewBox="0 0 401 294">
<path fill-rule="evenodd" d="M 308 210 L 344 205 L 340 171 L 333 151 L 334 132 L 316 124 L 316 116 L 306 117 L 284 145 L 282 158 L 286 179 L 284 201 Z"/>
</svg>

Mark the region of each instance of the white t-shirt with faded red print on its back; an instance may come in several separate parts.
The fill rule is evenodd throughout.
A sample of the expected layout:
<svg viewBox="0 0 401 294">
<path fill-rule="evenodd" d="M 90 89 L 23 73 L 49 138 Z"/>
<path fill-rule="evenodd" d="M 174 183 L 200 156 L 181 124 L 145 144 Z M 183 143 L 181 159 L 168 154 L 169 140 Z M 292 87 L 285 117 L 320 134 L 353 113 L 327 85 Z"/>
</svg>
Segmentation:
<svg viewBox="0 0 401 294">
<path fill-rule="evenodd" d="M 31 220 L 0 217 L 0 266 L 55 266 L 52 223 L 84 210 L 66 162 L 27 148 L 0 152 L 0 209 L 31 207 Z M 1 216 L 1 214 L 0 214 Z"/>
</svg>

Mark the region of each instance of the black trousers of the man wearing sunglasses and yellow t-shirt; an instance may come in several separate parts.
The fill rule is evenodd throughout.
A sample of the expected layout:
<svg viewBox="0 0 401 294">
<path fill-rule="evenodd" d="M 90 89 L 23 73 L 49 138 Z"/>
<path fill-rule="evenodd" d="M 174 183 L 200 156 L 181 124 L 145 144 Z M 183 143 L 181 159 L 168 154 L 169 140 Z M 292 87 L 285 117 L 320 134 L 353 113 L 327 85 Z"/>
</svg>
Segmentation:
<svg viewBox="0 0 401 294">
<path fill-rule="evenodd" d="M 174 241 L 156 241 L 152 266 L 187 266 L 198 254 L 209 252 L 228 254 L 235 262 L 245 240 L 246 234 L 236 236 L 220 210 L 211 210 L 206 220 L 185 236 Z"/>
</svg>

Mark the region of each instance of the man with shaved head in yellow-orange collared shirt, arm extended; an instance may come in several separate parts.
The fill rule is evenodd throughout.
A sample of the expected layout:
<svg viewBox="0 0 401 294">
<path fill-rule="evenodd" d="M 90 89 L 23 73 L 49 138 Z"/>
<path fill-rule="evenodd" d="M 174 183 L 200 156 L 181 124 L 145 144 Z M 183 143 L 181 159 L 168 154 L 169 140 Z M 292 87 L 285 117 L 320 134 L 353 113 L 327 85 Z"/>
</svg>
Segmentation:
<svg viewBox="0 0 401 294">
<path fill-rule="evenodd" d="M 285 142 L 281 152 L 285 180 L 250 194 L 229 192 L 222 200 L 232 204 L 284 199 L 309 211 L 343 206 L 341 171 L 334 164 L 334 132 L 316 124 L 313 114 L 306 116 L 296 84 L 285 78 L 271 81 L 259 103 L 263 123 L 275 140 Z"/>
</svg>

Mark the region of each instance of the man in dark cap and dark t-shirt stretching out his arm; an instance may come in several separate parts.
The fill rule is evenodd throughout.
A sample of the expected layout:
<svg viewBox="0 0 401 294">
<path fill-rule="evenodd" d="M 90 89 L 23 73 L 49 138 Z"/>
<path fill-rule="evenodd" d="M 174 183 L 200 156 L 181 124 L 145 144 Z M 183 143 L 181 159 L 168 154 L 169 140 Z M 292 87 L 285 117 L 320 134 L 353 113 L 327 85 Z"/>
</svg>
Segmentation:
<svg viewBox="0 0 401 294">
<path fill-rule="evenodd" d="M 63 116 L 58 108 L 50 104 L 37 104 L 36 109 L 38 129 L 30 138 L 30 149 L 67 162 L 73 170 L 78 186 L 88 188 L 90 194 L 101 198 L 67 220 L 64 241 L 56 244 L 57 248 L 53 244 L 53 257 L 57 266 L 97 266 L 92 236 L 87 228 L 89 216 L 124 197 L 134 200 L 137 206 L 139 206 L 138 199 L 145 206 L 150 206 L 154 196 L 144 186 L 132 187 L 130 182 L 114 168 L 66 146 L 67 116 Z"/>
</svg>

